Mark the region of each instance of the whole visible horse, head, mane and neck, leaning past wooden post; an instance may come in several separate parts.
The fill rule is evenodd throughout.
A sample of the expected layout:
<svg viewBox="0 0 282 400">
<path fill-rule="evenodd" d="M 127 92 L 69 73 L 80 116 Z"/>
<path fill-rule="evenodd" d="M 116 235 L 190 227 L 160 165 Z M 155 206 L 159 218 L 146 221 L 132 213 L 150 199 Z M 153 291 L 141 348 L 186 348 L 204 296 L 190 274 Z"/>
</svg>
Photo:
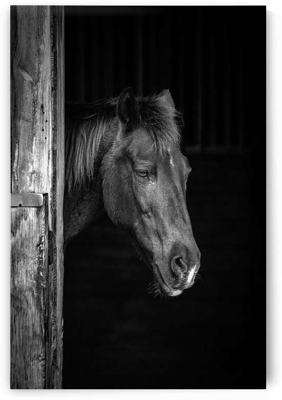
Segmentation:
<svg viewBox="0 0 282 400">
<path fill-rule="evenodd" d="M 66 104 L 64 242 L 106 212 L 133 238 L 165 297 L 193 285 L 201 259 L 186 205 L 182 125 L 168 89 Z"/>
</svg>

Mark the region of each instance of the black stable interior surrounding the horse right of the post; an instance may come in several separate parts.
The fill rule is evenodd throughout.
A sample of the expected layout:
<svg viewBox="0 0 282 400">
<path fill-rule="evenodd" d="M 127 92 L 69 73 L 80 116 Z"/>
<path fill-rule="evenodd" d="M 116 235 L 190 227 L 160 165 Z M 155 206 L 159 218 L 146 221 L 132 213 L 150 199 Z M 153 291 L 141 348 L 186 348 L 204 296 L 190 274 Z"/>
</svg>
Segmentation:
<svg viewBox="0 0 282 400">
<path fill-rule="evenodd" d="M 169 88 L 199 279 L 169 300 L 107 217 L 69 245 L 64 389 L 265 388 L 266 8 L 65 7 L 66 100 Z"/>
</svg>

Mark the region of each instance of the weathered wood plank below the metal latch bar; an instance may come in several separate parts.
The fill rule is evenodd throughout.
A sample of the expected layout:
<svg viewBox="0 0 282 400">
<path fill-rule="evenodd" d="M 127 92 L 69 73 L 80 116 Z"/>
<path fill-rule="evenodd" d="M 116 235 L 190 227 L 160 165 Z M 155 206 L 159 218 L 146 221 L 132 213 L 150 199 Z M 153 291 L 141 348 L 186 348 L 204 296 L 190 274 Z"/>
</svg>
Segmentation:
<svg viewBox="0 0 282 400">
<path fill-rule="evenodd" d="M 14 389 L 45 389 L 47 229 L 47 196 L 42 207 L 11 208 L 11 388 Z"/>
</svg>

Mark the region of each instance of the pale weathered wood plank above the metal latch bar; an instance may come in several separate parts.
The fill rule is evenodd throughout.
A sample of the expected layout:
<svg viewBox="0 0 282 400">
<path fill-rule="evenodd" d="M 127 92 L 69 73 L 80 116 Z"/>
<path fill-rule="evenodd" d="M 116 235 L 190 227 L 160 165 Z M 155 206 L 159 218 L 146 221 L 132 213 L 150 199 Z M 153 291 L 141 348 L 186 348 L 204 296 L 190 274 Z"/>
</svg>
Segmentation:
<svg viewBox="0 0 282 400">
<path fill-rule="evenodd" d="M 50 7 L 11 7 L 12 192 L 52 188 Z"/>
</svg>

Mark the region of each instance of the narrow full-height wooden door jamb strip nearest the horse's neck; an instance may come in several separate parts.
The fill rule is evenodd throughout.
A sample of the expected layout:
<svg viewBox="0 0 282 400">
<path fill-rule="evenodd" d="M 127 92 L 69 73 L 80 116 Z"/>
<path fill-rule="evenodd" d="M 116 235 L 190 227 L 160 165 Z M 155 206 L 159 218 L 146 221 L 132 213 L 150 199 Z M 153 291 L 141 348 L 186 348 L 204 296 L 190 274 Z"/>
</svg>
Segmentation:
<svg viewBox="0 0 282 400">
<path fill-rule="evenodd" d="M 53 191 L 52 260 L 49 268 L 50 359 L 47 388 L 62 388 L 63 190 L 64 190 L 64 41 L 63 8 L 52 9 Z"/>
</svg>

